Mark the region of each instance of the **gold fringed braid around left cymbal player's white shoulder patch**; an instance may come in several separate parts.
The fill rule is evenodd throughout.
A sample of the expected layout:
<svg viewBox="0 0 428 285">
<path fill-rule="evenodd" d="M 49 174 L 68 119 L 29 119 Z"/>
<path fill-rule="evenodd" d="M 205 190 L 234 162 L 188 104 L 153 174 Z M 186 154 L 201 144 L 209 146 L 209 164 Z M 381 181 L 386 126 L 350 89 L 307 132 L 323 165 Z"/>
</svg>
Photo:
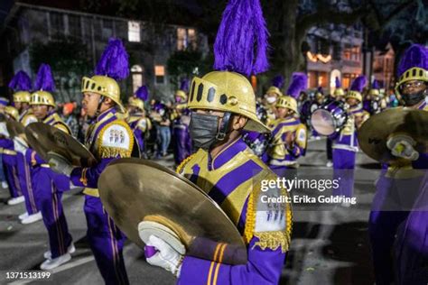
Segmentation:
<svg viewBox="0 0 428 285">
<path fill-rule="evenodd" d="M 102 145 L 104 133 L 106 132 L 106 130 L 110 126 L 112 126 L 114 124 L 118 124 L 118 125 L 125 127 L 126 133 L 129 136 L 129 147 L 128 148 L 118 148 L 118 147 L 111 147 L 111 146 L 105 147 Z M 120 157 L 120 158 L 131 157 L 133 147 L 134 147 L 134 134 L 133 134 L 131 128 L 129 127 L 129 124 L 127 124 L 123 120 L 115 120 L 109 124 L 106 124 L 101 129 L 101 131 L 98 133 L 97 149 L 98 149 L 98 157 L 99 158 L 105 159 L 105 158 L 112 158 L 112 157 Z"/>
</svg>

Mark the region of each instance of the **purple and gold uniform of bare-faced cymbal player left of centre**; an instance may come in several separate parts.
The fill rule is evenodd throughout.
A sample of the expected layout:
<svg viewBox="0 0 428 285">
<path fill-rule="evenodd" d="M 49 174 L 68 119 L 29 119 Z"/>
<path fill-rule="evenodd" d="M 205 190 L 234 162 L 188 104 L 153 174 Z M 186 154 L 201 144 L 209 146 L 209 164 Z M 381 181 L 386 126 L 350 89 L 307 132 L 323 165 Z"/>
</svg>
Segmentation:
<svg viewBox="0 0 428 285">
<path fill-rule="evenodd" d="M 122 253 L 126 236 L 103 208 L 98 194 L 98 178 L 109 162 L 130 157 L 134 143 L 129 125 L 117 119 L 115 109 L 109 109 L 98 115 L 86 136 L 85 145 L 98 159 L 98 164 L 90 168 L 75 168 L 70 175 L 75 186 L 85 188 L 88 242 L 107 284 L 128 283 Z"/>
</svg>

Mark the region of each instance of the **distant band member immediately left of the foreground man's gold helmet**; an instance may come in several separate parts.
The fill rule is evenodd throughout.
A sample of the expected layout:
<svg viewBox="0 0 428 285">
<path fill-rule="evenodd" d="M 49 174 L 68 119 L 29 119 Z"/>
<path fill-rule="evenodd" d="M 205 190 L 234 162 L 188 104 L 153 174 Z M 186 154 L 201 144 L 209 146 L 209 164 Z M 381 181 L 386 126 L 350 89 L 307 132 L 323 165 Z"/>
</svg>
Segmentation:
<svg viewBox="0 0 428 285">
<path fill-rule="evenodd" d="M 191 134 L 189 133 L 191 117 L 187 107 L 187 92 L 189 92 L 189 80 L 184 79 L 181 81 L 180 89 L 175 92 L 175 106 L 172 112 L 174 160 L 177 166 L 192 152 Z"/>
</svg>

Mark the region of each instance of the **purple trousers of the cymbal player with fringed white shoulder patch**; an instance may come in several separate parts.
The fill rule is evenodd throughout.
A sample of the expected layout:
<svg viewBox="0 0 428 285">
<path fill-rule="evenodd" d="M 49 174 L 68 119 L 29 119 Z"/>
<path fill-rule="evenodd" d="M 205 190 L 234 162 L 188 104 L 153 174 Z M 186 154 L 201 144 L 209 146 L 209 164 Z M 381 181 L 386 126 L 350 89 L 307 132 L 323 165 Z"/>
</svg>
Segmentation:
<svg viewBox="0 0 428 285">
<path fill-rule="evenodd" d="M 104 281 L 106 284 L 129 284 L 123 256 L 125 234 L 108 216 L 100 198 L 86 195 L 84 211 L 88 242 Z"/>
</svg>

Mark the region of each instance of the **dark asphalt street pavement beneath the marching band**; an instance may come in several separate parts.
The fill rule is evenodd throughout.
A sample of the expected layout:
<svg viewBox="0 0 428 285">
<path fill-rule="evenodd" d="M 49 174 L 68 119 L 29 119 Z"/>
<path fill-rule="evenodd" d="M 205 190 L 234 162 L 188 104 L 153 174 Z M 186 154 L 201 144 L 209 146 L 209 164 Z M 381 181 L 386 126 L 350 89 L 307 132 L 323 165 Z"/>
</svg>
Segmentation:
<svg viewBox="0 0 428 285">
<path fill-rule="evenodd" d="M 172 167 L 172 155 L 157 162 Z M 325 140 L 311 141 L 306 156 L 300 160 L 299 172 L 330 175 L 331 169 L 326 167 L 326 162 Z M 374 283 L 368 213 L 379 169 L 378 163 L 362 152 L 358 152 L 357 164 L 354 186 L 357 205 L 293 206 L 292 245 L 281 284 Z M 62 198 L 77 251 L 70 262 L 51 271 L 51 284 L 103 284 L 85 238 L 87 225 L 80 192 L 81 189 L 74 188 Z M 46 281 L 37 280 L 6 280 L 7 271 L 39 270 L 44 261 L 42 255 L 48 250 L 42 221 L 21 225 L 18 215 L 24 212 L 24 206 L 7 206 L 8 196 L 7 189 L 0 189 L 0 284 L 46 284 Z M 124 255 L 131 284 L 174 284 L 172 274 L 146 263 L 143 251 L 135 244 L 128 242 Z"/>
</svg>

